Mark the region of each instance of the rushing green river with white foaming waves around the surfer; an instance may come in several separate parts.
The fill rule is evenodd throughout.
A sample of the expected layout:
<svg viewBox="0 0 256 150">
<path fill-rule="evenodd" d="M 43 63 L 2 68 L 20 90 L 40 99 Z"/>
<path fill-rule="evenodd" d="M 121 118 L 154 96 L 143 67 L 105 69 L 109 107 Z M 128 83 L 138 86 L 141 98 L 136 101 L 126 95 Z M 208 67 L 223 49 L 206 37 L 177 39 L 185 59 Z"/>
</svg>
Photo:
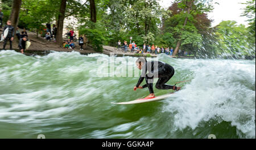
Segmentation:
<svg viewBox="0 0 256 150">
<path fill-rule="evenodd" d="M 118 59 L 126 63 L 111 68 Z M 133 91 L 138 76 L 118 73 L 138 72 L 135 59 L 1 51 L 0 138 L 255 138 L 255 59 L 161 54 L 156 59 L 175 68 L 168 84 L 190 80 L 179 84 L 181 91 L 155 102 L 111 104 L 148 95 Z M 173 92 L 154 90 L 156 96 Z"/>
</svg>

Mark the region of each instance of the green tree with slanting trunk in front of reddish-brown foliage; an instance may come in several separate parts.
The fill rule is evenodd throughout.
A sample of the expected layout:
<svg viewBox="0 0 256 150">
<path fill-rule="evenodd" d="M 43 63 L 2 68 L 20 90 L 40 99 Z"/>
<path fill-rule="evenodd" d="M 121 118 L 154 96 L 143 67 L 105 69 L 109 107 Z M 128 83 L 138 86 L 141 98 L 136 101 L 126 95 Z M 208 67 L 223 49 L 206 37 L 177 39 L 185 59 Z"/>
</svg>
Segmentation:
<svg viewBox="0 0 256 150">
<path fill-rule="evenodd" d="M 197 29 L 193 23 L 196 22 L 195 16 L 197 14 L 204 14 L 213 10 L 212 0 L 177 0 L 177 14 L 172 16 L 172 21 L 176 23 L 172 27 L 174 35 L 176 36 L 176 48 L 173 55 L 176 55 L 180 48 L 180 45 L 188 44 L 188 42 L 200 41 L 200 34 L 197 33 Z M 173 20 L 176 19 L 176 20 Z"/>
</svg>

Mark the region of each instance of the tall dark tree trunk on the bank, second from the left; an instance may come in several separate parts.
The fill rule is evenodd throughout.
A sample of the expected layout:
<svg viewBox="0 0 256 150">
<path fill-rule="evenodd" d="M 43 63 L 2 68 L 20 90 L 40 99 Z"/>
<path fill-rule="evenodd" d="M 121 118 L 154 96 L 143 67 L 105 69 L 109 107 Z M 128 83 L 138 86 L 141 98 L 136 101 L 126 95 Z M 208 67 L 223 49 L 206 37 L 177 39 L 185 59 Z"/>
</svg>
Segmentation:
<svg viewBox="0 0 256 150">
<path fill-rule="evenodd" d="M 66 10 L 67 0 L 61 0 L 60 4 L 60 13 L 57 21 L 57 34 L 56 34 L 56 43 L 63 46 L 63 23 L 65 19 L 65 10 Z"/>
</svg>

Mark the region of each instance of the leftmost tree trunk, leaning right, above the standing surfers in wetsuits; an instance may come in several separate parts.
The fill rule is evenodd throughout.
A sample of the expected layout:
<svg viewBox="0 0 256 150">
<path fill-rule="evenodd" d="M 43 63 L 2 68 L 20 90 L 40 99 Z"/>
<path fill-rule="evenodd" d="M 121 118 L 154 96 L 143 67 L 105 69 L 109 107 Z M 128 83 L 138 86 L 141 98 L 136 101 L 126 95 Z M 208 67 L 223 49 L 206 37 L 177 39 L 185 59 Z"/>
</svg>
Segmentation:
<svg viewBox="0 0 256 150">
<path fill-rule="evenodd" d="M 9 17 L 9 20 L 11 20 L 11 25 L 13 25 L 14 27 L 14 33 L 16 32 L 16 27 L 19 22 L 19 10 L 20 10 L 21 3 L 22 3 L 22 0 L 13 1 L 13 8 L 11 10 L 11 15 Z"/>
</svg>

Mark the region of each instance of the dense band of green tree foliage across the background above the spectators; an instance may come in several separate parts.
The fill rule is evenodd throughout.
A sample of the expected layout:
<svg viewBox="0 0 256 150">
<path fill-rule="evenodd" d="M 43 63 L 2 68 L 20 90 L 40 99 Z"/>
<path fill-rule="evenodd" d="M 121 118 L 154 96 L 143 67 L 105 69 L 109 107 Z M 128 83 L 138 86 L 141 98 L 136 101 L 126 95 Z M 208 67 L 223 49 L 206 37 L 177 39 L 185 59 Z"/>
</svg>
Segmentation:
<svg viewBox="0 0 256 150">
<path fill-rule="evenodd" d="M 92 23 L 92 1 L 67 0 L 65 17 L 79 20 L 79 33 L 101 52 L 102 45 L 117 46 L 117 41 L 138 46 L 155 44 L 181 49 L 199 57 L 231 55 L 255 56 L 255 0 L 248 0 L 242 16 L 249 26 L 232 20 L 212 27 L 208 13 L 212 0 L 176 0 L 167 10 L 159 0 L 95 0 L 96 15 Z M 2 0 L 3 22 L 11 12 L 12 0 Z M 44 24 L 57 22 L 60 0 L 23 0 L 19 27 L 39 32 Z"/>
</svg>

